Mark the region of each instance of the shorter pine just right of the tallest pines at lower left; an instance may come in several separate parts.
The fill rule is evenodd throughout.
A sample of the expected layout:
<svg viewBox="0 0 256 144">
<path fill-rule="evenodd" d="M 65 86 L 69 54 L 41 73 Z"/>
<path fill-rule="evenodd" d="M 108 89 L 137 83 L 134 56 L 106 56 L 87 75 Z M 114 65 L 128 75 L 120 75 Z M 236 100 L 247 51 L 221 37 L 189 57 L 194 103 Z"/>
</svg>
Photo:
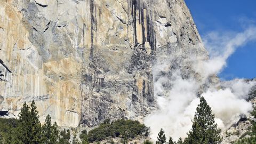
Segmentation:
<svg viewBox="0 0 256 144">
<path fill-rule="evenodd" d="M 42 126 L 42 142 L 43 143 L 57 143 L 59 139 L 59 132 L 57 130 L 57 123 L 52 125 L 50 115 L 46 116 L 44 125 Z"/>
</svg>

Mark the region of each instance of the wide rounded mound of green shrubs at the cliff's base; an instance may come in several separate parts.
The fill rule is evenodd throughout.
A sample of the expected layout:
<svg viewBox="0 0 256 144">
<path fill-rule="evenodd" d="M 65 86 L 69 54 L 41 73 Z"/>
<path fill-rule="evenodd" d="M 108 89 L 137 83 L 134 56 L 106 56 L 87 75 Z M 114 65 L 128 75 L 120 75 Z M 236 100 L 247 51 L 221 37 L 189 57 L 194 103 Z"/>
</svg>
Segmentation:
<svg viewBox="0 0 256 144">
<path fill-rule="evenodd" d="M 99 127 L 89 131 L 87 138 L 89 142 L 102 141 L 108 137 L 120 137 L 125 140 L 128 138 L 135 138 L 138 135 L 142 135 L 147 132 L 147 127 L 144 124 L 140 124 L 138 121 L 118 119 L 117 121 L 110 123 L 110 120 L 106 119 L 99 125 Z M 84 137 L 84 135 L 85 134 L 82 133 L 80 137 Z"/>
</svg>

